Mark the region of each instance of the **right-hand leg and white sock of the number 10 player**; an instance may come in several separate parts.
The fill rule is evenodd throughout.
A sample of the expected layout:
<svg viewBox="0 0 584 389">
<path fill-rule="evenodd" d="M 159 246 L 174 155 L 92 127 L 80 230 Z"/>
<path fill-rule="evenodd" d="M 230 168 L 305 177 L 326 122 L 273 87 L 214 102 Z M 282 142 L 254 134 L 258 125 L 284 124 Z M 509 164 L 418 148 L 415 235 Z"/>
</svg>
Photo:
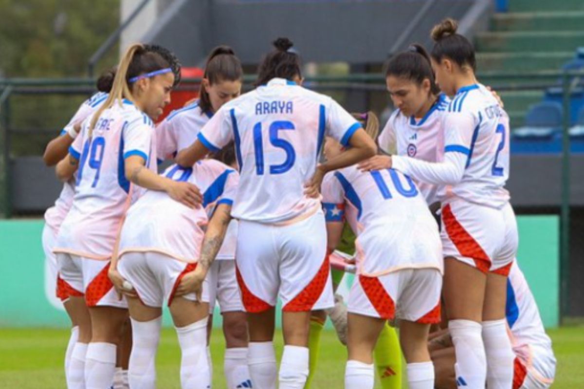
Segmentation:
<svg viewBox="0 0 584 389">
<path fill-rule="evenodd" d="M 399 324 L 399 344 L 408 362 L 408 387 L 434 388 L 434 366 L 428 351 L 430 324 L 402 320 Z"/>
</svg>

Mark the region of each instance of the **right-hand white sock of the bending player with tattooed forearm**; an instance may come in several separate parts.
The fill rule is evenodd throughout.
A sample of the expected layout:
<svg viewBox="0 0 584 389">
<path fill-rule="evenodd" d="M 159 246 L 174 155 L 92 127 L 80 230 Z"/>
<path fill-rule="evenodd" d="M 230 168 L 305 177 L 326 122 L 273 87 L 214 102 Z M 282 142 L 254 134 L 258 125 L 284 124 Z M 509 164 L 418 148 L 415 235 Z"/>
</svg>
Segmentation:
<svg viewBox="0 0 584 389">
<path fill-rule="evenodd" d="M 180 351 L 180 386 L 183 389 L 207 389 L 209 380 L 209 362 L 207 348 L 207 318 L 185 327 L 176 327 Z"/>
</svg>

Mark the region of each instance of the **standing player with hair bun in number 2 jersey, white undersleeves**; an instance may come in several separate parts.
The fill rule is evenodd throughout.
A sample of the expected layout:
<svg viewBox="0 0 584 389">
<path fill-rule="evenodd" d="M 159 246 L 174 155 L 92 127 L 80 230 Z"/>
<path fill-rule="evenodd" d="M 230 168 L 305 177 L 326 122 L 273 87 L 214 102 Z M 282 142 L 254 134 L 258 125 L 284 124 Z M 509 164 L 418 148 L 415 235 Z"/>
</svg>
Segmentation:
<svg viewBox="0 0 584 389">
<path fill-rule="evenodd" d="M 471 43 L 447 19 L 434 27 L 432 66 L 454 96 L 444 118 L 443 162 L 391 157 L 416 180 L 447 185 L 442 196 L 444 300 L 456 349 L 459 387 L 509 388 L 513 352 L 505 327 L 506 278 L 517 226 L 504 188 L 509 176 L 509 117 L 477 83 Z"/>
</svg>

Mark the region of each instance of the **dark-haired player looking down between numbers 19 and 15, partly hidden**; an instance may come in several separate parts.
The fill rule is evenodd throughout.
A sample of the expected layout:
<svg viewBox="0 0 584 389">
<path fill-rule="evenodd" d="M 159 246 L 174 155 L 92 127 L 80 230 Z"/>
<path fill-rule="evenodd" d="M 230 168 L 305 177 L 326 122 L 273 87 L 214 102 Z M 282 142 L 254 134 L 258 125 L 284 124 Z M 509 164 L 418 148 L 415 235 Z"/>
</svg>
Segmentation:
<svg viewBox="0 0 584 389">
<path fill-rule="evenodd" d="M 223 104 L 238 97 L 241 92 L 243 69 L 235 52 L 227 46 L 215 47 L 203 74 L 200 99 L 174 111 L 157 127 L 158 156 L 174 158 L 190 146 L 213 114 Z M 233 153 L 231 153 L 233 155 Z M 227 153 L 222 153 L 227 155 Z M 233 156 L 235 160 L 235 156 Z M 231 165 L 231 161 L 221 159 Z M 233 161 L 234 162 L 234 161 Z M 224 372 L 228 388 L 249 380 L 247 365 L 248 330 L 241 296 L 235 277 L 235 244 L 237 220 L 231 220 L 223 246 L 208 273 L 210 293 L 210 318 L 208 333 L 211 335 L 215 300 L 218 300 L 223 316 L 225 335 Z M 208 352 L 209 349 L 207 349 Z M 212 371 L 211 371 L 212 373 Z"/>
</svg>

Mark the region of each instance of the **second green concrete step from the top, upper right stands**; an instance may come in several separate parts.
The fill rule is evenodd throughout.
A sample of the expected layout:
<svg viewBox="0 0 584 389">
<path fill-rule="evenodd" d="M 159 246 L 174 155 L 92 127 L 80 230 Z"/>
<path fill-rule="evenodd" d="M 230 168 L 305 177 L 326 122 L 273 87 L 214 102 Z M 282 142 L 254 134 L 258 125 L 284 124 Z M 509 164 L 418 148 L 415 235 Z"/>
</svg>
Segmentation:
<svg viewBox="0 0 584 389">
<path fill-rule="evenodd" d="M 496 13 L 491 27 L 492 31 L 584 31 L 584 10 Z"/>
</svg>

